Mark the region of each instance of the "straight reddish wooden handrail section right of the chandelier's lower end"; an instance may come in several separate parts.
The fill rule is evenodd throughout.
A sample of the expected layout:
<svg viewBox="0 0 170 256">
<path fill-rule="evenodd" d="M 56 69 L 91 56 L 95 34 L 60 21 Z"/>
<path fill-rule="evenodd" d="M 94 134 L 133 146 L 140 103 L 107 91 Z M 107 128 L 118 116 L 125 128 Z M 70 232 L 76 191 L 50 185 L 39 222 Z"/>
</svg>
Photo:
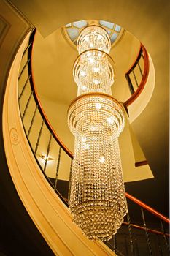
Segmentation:
<svg viewBox="0 0 170 256">
<path fill-rule="evenodd" d="M 139 206 L 141 206 L 142 208 L 146 209 L 147 211 L 150 211 L 152 214 L 154 214 L 156 217 L 162 219 L 164 222 L 170 223 L 169 219 L 167 217 L 165 217 L 163 214 L 160 214 L 158 211 L 156 211 L 154 208 L 147 206 L 146 203 L 143 203 L 141 200 L 137 199 L 136 197 L 134 197 L 133 195 L 128 194 L 127 192 L 125 192 L 125 196 L 128 197 L 128 199 L 130 199 L 131 201 L 133 201 L 134 203 L 138 204 Z"/>
</svg>

